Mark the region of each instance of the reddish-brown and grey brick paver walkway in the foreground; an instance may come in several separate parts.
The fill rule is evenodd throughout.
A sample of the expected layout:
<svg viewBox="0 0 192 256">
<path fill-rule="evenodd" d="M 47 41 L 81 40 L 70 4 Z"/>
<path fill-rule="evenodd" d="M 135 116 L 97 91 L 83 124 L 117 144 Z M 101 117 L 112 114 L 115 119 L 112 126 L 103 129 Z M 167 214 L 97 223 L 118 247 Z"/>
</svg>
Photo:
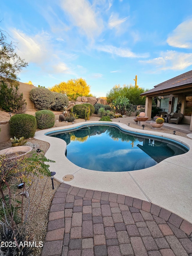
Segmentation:
<svg viewBox="0 0 192 256">
<path fill-rule="evenodd" d="M 41 256 L 192 256 L 192 224 L 159 206 L 62 183 Z"/>
</svg>

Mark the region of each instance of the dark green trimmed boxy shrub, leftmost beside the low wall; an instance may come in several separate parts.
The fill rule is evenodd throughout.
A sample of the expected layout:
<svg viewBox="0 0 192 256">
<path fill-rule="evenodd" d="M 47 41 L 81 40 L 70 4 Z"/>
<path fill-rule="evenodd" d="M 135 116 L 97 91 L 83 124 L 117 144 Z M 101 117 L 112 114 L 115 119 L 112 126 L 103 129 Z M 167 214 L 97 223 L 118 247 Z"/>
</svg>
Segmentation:
<svg viewBox="0 0 192 256">
<path fill-rule="evenodd" d="M 10 134 L 12 137 L 24 137 L 28 139 L 35 135 L 37 121 L 35 116 L 28 114 L 16 114 L 9 120 Z"/>
</svg>

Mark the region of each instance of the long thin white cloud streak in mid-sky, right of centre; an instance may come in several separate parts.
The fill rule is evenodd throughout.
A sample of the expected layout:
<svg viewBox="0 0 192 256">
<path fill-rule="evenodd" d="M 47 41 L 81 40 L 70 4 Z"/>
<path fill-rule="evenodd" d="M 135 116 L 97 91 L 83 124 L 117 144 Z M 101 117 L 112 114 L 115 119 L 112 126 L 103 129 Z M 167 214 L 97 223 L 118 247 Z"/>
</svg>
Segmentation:
<svg viewBox="0 0 192 256">
<path fill-rule="evenodd" d="M 112 45 L 98 46 L 98 51 L 107 52 L 111 54 L 115 54 L 117 56 L 123 58 L 147 58 L 149 57 L 149 53 L 136 54 L 131 52 L 129 49 L 122 49 Z"/>
</svg>

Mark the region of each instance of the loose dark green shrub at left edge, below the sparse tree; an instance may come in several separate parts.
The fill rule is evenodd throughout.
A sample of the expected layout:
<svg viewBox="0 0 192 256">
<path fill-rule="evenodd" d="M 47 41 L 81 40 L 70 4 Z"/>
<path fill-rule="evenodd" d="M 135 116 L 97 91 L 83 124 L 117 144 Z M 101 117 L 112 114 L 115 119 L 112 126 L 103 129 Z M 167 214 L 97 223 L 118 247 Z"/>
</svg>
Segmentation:
<svg viewBox="0 0 192 256">
<path fill-rule="evenodd" d="M 17 114 L 26 111 L 27 103 L 25 99 L 23 99 L 23 94 L 18 91 L 18 86 L 7 86 L 7 84 L 2 81 L 0 88 L 0 106 L 2 109 Z"/>
</svg>

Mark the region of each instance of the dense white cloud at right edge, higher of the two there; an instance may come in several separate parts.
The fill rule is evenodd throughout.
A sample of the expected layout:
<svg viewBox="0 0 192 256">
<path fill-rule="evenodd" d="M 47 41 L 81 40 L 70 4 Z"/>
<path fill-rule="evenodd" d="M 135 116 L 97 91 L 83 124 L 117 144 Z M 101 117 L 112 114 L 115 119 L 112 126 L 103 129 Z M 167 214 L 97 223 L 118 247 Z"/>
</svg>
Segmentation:
<svg viewBox="0 0 192 256">
<path fill-rule="evenodd" d="M 179 24 L 167 38 L 167 43 L 173 47 L 192 48 L 192 19 Z"/>
</svg>

